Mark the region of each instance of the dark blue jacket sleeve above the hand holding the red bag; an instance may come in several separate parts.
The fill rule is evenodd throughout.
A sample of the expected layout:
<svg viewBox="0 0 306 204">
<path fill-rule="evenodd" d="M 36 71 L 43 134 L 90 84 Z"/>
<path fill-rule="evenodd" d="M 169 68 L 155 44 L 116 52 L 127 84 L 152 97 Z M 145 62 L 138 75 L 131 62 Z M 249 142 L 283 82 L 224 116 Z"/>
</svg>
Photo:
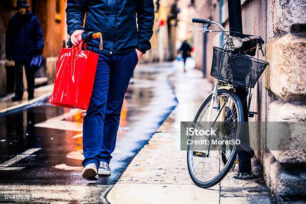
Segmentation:
<svg viewBox="0 0 306 204">
<path fill-rule="evenodd" d="M 71 35 L 75 30 L 84 30 L 83 22 L 87 0 L 67 0 L 67 31 Z"/>
</svg>

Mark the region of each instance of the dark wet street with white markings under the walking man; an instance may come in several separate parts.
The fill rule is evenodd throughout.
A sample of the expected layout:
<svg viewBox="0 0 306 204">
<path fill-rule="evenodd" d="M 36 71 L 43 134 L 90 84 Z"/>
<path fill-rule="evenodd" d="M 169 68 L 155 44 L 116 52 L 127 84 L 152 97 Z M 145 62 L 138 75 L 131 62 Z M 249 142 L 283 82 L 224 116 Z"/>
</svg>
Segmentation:
<svg viewBox="0 0 306 204">
<path fill-rule="evenodd" d="M 105 193 L 147 143 L 177 101 L 168 83 L 171 63 L 139 65 L 121 111 L 110 176 L 81 178 L 85 111 L 41 100 L 0 115 L 0 191 L 32 193 L 33 202 L 106 202 Z"/>
</svg>

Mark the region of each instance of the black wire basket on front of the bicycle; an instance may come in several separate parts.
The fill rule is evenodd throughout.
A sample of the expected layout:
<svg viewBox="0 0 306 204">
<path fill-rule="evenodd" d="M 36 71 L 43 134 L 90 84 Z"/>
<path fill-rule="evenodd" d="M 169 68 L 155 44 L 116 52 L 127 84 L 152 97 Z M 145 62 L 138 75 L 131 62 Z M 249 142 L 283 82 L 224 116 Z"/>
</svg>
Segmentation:
<svg viewBox="0 0 306 204">
<path fill-rule="evenodd" d="M 245 54 L 213 47 L 210 75 L 235 86 L 253 88 L 269 63 Z"/>
</svg>

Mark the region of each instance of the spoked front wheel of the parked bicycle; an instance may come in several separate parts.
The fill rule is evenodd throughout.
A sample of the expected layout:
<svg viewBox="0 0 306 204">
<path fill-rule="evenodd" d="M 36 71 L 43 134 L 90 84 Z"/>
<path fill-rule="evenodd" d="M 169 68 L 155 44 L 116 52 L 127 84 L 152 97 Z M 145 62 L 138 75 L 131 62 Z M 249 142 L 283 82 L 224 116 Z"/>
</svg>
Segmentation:
<svg viewBox="0 0 306 204">
<path fill-rule="evenodd" d="M 239 139 L 242 134 L 243 110 L 238 96 L 227 89 L 218 90 L 217 96 L 213 101 L 211 113 L 209 106 L 212 93 L 203 101 L 199 107 L 194 120 L 194 126 L 201 126 L 207 121 L 208 124 L 222 124 L 222 131 L 218 131 L 214 138 L 222 140 Z M 210 117 L 210 118 L 208 118 Z M 213 128 L 219 128 L 212 126 Z M 196 135 L 189 136 L 190 140 L 198 140 Z M 207 136 L 206 136 L 207 139 Z M 213 138 L 209 138 L 210 141 Z M 199 187 L 211 187 L 227 174 L 236 159 L 238 144 L 188 144 L 187 165 L 192 181 Z"/>
</svg>

